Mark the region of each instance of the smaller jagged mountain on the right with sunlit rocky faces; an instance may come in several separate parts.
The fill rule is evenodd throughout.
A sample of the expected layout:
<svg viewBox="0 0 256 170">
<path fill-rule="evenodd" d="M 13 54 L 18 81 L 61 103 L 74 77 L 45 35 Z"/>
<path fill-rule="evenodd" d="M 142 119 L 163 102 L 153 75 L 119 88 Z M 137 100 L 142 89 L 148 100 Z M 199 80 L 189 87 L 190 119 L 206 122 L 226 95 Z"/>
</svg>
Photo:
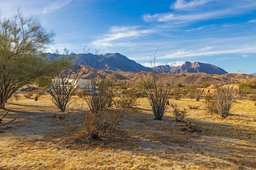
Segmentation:
<svg viewBox="0 0 256 170">
<path fill-rule="evenodd" d="M 212 64 L 186 61 L 182 66 L 170 67 L 169 65 L 160 65 L 155 67 L 156 72 L 164 69 L 165 73 L 208 73 L 208 74 L 227 74 L 224 69 Z"/>
</svg>

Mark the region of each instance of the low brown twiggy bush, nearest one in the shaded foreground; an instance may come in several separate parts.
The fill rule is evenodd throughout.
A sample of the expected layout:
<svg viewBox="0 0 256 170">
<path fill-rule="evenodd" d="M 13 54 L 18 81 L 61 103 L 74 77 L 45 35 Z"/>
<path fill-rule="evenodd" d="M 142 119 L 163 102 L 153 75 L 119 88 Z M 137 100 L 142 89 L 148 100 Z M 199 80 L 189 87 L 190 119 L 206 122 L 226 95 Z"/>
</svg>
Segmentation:
<svg viewBox="0 0 256 170">
<path fill-rule="evenodd" d="M 97 113 L 88 111 L 85 115 L 84 128 L 81 132 L 86 139 L 97 139 L 112 134 L 126 114 L 112 109 L 102 109 Z"/>
</svg>

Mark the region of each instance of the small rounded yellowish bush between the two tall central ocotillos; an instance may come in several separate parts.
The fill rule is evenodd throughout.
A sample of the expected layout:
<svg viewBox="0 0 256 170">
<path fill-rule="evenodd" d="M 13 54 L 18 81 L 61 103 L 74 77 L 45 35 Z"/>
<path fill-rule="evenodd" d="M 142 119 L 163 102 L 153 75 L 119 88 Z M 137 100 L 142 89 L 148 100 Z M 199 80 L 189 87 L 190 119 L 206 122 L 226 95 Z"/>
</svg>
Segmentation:
<svg viewBox="0 0 256 170">
<path fill-rule="evenodd" d="M 128 108 L 128 107 L 133 107 L 133 106 L 137 106 L 138 102 L 137 102 L 137 98 L 136 97 L 118 97 L 116 99 L 114 99 L 114 103 L 116 105 L 116 107 L 119 108 Z"/>
</svg>

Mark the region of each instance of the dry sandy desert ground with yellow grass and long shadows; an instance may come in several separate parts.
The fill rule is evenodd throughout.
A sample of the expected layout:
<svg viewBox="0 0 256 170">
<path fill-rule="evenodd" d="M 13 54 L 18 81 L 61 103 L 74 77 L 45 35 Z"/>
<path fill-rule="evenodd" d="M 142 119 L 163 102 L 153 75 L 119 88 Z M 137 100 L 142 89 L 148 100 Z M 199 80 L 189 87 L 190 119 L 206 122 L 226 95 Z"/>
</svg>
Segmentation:
<svg viewBox="0 0 256 170">
<path fill-rule="evenodd" d="M 222 119 L 204 110 L 204 99 L 171 100 L 194 119 L 196 131 L 191 132 L 175 121 L 172 107 L 162 120 L 154 120 L 147 99 L 139 98 L 139 105 L 127 110 L 116 134 L 86 142 L 76 140 L 86 102 L 74 97 L 66 113 L 60 113 L 50 99 L 42 95 L 38 101 L 33 97 L 8 101 L 6 109 L 11 111 L 4 120 L 16 121 L 1 129 L 1 169 L 256 169 L 253 101 L 237 99 L 232 113 Z"/>
</svg>

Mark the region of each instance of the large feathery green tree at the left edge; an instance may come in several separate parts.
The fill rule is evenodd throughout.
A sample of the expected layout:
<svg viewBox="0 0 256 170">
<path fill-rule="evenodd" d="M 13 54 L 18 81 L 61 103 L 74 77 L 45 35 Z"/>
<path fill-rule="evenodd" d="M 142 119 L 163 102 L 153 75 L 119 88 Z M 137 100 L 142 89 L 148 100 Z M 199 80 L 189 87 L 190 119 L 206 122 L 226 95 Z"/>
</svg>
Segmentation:
<svg viewBox="0 0 256 170">
<path fill-rule="evenodd" d="M 42 76 L 52 76 L 70 64 L 66 57 L 42 55 L 54 32 L 42 28 L 36 16 L 24 17 L 20 9 L 11 18 L 0 18 L 0 109 L 21 86 Z"/>
</svg>

